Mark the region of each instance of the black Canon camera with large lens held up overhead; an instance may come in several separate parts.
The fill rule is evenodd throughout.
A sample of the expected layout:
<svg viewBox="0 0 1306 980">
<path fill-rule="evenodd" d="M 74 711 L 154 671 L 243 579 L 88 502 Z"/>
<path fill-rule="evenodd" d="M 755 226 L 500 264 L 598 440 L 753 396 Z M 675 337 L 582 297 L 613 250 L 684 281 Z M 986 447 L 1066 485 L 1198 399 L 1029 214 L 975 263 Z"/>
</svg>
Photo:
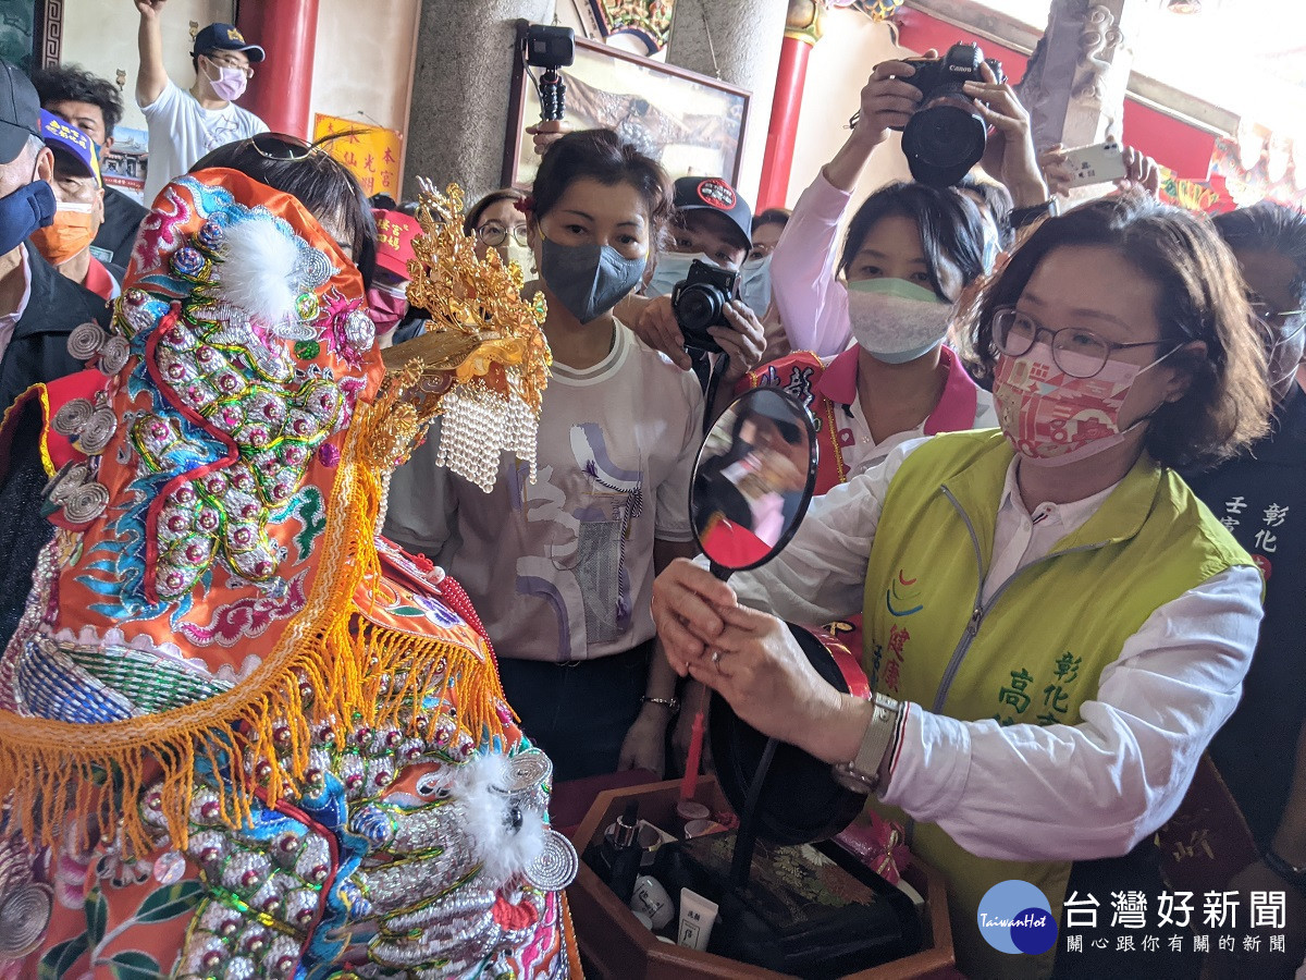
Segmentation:
<svg viewBox="0 0 1306 980">
<path fill-rule="evenodd" d="M 999 82 L 1007 80 L 1002 63 L 985 59 L 978 44 L 953 44 L 943 57 L 909 57 L 916 69 L 902 78 L 921 90 L 921 105 L 902 128 L 902 153 L 912 176 L 931 187 L 949 187 L 983 157 L 989 127 L 961 86 L 983 81 L 987 64 Z"/>
</svg>

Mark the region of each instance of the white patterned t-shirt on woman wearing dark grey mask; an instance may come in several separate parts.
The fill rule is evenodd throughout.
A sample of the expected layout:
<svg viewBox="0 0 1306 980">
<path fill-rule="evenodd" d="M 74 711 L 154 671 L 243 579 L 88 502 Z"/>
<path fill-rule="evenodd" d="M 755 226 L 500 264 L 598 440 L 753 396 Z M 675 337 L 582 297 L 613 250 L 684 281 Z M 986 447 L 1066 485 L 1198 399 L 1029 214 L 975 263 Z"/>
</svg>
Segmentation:
<svg viewBox="0 0 1306 980">
<path fill-rule="evenodd" d="M 586 660 L 653 636 L 653 540 L 692 541 L 703 393 L 622 324 L 576 371 L 554 362 L 538 477 L 500 464 L 483 493 L 435 465 L 439 431 L 390 481 L 385 534 L 468 591 L 499 656 Z"/>
</svg>

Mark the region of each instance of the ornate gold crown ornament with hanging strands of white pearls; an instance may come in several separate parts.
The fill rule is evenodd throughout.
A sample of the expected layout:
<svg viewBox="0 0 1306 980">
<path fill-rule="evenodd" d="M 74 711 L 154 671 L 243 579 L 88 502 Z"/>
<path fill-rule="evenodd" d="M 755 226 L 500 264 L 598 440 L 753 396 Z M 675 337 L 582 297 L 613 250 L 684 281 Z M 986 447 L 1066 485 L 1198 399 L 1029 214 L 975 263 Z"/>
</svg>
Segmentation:
<svg viewBox="0 0 1306 980">
<path fill-rule="evenodd" d="M 422 234 L 413 240 L 407 299 L 431 315 L 426 331 L 381 353 L 422 417 L 443 416 L 439 465 L 488 491 L 508 451 L 535 478 L 539 404 L 552 355 L 539 327 L 543 294 L 521 295 L 522 274 L 494 248 L 485 259 L 462 231 L 462 191 L 423 183 Z"/>
</svg>

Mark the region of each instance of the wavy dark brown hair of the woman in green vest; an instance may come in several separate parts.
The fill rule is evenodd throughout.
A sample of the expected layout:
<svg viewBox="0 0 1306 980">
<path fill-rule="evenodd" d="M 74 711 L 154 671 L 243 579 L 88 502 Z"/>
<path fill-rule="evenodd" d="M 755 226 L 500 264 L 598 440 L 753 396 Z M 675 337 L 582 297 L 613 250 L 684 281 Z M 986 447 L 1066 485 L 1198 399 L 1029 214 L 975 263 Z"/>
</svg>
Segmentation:
<svg viewBox="0 0 1306 980">
<path fill-rule="evenodd" d="M 1148 195 L 1128 193 L 1043 221 L 1007 267 L 964 311 L 966 354 L 981 382 L 993 380 L 999 351 L 993 337 L 998 307 L 1020 299 L 1038 264 L 1057 248 L 1110 248 L 1156 284 L 1161 338 L 1181 350 L 1166 363 L 1186 371 L 1187 391 L 1161 405 L 1147 431 L 1147 451 L 1168 466 L 1218 463 L 1267 431 L 1271 409 L 1266 355 L 1251 329 L 1238 263 L 1209 222 Z"/>
</svg>

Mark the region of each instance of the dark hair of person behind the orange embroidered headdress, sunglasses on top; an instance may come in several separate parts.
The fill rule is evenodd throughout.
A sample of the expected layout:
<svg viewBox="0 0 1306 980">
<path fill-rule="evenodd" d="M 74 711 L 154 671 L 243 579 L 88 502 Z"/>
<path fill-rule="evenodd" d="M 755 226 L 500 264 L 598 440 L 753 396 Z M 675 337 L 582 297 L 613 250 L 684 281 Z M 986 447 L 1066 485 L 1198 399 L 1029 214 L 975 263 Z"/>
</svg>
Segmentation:
<svg viewBox="0 0 1306 980">
<path fill-rule="evenodd" d="M 218 146 L 191 167 L 191 172 L 213 167 L 239 170 L 274 191 L 289 193 L 315 216 L 340 216 L 349 244 L 358 256 L 354 264 L 363 276 L 363 287 L 370 289 L 376 273 L 376 222 L 372 220 L 372 204 L 363 193 L 358 178 L 338 159 L 316 149 L 316 145 L 307 154 L 293 159 L 266 157 L 255 146 L 255 140 L 268 139 L 303 145 L 302 140 L 293 136 L 260 133 L 249 140 Z"/>
</svg>

